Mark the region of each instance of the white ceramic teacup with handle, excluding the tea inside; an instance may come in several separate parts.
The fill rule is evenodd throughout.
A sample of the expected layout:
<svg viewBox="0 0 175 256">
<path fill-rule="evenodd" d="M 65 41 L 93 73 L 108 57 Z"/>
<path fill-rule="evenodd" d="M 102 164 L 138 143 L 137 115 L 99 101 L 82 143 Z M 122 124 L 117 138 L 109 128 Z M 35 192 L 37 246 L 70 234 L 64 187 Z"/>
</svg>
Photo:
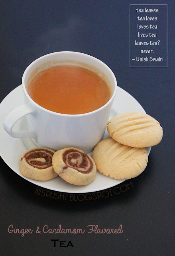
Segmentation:
<svg viewBox="0 0 175 256">
<path fill-rule="evenodd" d="M 111 90 L 110 100 L 101 108 L 86 114 L 59 114 L 34 102 L 28 92 L 29 80 L 44 68 L 59 64 L 83 66 L 104 76 Z M 102 61 L 80 52 L 53 52 L 38 58 L 26 68 L 22 77 L 26 104 L 13 110 L 4 121 L 4 129 L 15 138 L 30 137 L 38 147 L 59 150 L 73 146 L 91 152 L 102 140 L 116 95 L 117 81 L 114 73 Z M 12 131 L 14 124 L 23 116 L 28 131 Z"/>
</svg>

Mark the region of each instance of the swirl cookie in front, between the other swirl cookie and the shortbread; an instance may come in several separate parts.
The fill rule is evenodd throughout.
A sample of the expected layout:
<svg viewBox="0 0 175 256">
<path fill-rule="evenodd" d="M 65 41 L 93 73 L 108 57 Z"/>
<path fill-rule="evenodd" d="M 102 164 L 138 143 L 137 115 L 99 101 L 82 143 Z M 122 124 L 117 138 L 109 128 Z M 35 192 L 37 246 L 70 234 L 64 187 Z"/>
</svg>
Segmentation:
<svg viewBox="0 0 175 256">
<path fill-rule="evenodd" d="M 77 148 L 58 150 L 52 158 L 55 172 L 74 185 L 87 185 L 96 177 L 93 159 Z"/>
</svg>

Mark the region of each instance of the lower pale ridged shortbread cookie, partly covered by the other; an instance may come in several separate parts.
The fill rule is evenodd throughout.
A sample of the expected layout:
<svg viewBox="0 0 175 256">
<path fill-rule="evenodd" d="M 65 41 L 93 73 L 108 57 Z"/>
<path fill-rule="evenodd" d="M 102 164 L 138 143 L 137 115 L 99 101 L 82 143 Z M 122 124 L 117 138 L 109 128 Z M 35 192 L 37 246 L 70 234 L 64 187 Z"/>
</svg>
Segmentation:
<svg viewBox="0 0 175 256">
<path fill-rule="evenodd" d="M 117 180 L 138 176 L 148 162 L 145 148 L 124 146 L 112 138 L 100 141 L 94 148 L 92 158 L 100 173 Z"/>
</svg>

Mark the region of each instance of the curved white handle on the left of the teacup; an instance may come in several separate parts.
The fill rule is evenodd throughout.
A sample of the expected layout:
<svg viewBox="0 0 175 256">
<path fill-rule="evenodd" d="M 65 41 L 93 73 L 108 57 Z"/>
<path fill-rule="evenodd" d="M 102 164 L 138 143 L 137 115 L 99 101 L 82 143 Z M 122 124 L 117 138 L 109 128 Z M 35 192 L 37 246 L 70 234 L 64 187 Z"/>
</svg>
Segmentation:
<svg viewBox="0 0 175 256">
<path fill-rule="evenodd" d="M 28 114 L 34 113 L 35 110 L 29 105 L 29 104 L 24 104 L 20 105 L 19 107 L 15 108 L 8 116 L 6 117 L 4 121 L 4 129 L 6 132 L 14 137 L 14 138 L 35 138 L 36 139 L 36 134 L 35 132 L 29 132 L 29 131 L 12 131 L 12 128 L 16 122 L 22 118 L 23 116 L 26 116 Z"/>
</svg>

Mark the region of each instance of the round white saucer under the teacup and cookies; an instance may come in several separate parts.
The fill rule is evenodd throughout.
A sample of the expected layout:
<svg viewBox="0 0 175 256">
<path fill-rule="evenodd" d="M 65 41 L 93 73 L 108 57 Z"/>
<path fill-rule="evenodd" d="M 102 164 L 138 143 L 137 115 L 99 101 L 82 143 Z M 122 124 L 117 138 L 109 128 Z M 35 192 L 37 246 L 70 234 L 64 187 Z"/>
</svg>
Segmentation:
<svg viewBox="0 0 175 256">
<path fill-rule="evenodd" d="M 6 162 L 6 164 L 22 178 L 43 188 L 67 193 L 87 193 L 104 190 L 112 186 L 116 186 L 124 181 L 109 178 L 99 172 L 97 172 L 96 179 L 86 186 L 75 186 L 69 184 L 60 177 L 48 181 L 37 181 L 30 180 L 22 176 L 19 168 L 20 156 L 26 150 L 35 148 L 36 146 L 30 138 L 12 138 L 4 130 L 4 120 L 6 116 L 21 104 L 24 104 L 22 85 L 10 92 L 0 104 L 0 156 L 4 162 Z M 135 100 L 128 92 L 118 87 L 110 118 L 116 114 L 129 111 L 146 113 L 137 100 Z M 15 124 L 13 130 L 27 130 L 26 117 L 20 119 Z M 107 137 L 109 137 L 109 134 L 106 130 L 104 138 Z M 147 148 L 148 154 L 150 150 L 151 147 Z"/>
</svg>

